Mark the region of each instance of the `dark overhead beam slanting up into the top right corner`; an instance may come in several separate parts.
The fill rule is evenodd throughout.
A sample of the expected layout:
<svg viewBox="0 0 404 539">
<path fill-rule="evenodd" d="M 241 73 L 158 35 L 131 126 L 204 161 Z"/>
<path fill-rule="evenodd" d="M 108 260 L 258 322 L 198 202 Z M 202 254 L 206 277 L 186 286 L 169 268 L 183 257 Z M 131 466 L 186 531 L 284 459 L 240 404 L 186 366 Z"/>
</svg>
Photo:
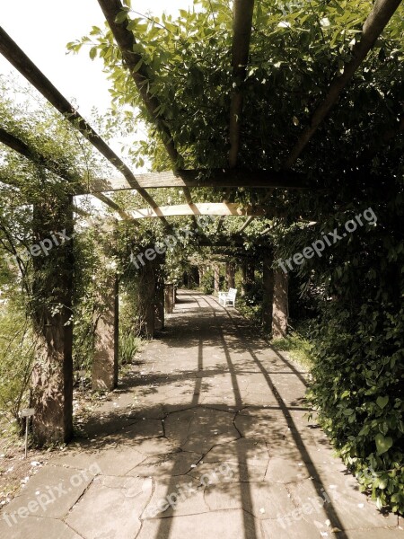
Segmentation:
<svg viewBox="0 0 404 539">
<path fill-rule="evenodd" d="M 285 160 L 284 168 L 291 168 L 303 152 L 323 119 L 329 114 L 329 110 L 338 101 L 344 88 L 347 86 L 356 69 L 361 65 L 367 53 L 372 49 L 375 41 L 384 30 L 392 15 L 397 10 L 401 0 L 376 0 L 373 4 L 372 12 L 364 22 L 360 41 L 356 42 L 352 49 L 352 58 L 344 66 L 341 75 L 337 75 L 329 84 L 329 90 L 325 99 L 318 105 L 312 114 L 310 125 L 303 130 L 294 148 Z"/>
</svg>

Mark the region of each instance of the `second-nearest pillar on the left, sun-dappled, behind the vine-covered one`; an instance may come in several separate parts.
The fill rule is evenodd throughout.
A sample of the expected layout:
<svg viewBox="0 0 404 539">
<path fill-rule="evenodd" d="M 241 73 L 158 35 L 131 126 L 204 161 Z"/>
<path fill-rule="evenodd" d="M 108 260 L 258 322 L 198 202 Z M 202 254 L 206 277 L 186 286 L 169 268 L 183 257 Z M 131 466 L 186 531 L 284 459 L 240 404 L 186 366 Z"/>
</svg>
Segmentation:
<svg viewBox="0 0 404 539">
<path fill-rule="evenodd" d="M 109 275 L 99 288 L 95 320 L 92 389 L 111 391 L 118 385 L 119 283 Z"/>
</svg>

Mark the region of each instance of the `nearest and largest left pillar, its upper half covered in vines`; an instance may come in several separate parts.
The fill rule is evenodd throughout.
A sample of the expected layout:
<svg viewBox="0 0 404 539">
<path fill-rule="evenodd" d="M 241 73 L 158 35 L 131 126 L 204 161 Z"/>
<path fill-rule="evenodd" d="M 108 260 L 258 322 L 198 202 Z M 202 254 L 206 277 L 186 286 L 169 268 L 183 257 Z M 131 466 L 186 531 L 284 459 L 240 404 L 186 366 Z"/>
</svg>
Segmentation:
<svg viewBox="0 0 404 539">
<path fill-rule="evenodd" d="M 33 436 L 40 446 L 68 442 L 73 436 L 72 202 L 69 195 L 52 195 L 47 190 L 33 208 L 29 256 L 33 265 L 31 316 L 37 356 L 32 371 L 31 406 L 35 409 Z"/>
</svg>

